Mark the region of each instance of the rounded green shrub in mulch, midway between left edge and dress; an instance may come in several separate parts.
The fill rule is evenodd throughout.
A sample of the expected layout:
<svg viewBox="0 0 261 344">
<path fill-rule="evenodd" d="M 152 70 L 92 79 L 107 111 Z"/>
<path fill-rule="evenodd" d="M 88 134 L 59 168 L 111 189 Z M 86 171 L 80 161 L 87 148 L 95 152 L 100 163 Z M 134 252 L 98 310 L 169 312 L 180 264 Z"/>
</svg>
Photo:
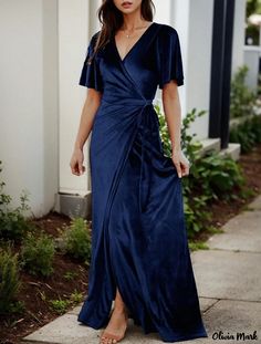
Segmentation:
<svg viewBox="0 0 261 344">
<path fill-rule="evenodd" d="M 44 232 L 28 233 L 21 247 L 21 265 L 31 274 L 49 277 L 53 272 L 53 239 Z"/>
</svg>

